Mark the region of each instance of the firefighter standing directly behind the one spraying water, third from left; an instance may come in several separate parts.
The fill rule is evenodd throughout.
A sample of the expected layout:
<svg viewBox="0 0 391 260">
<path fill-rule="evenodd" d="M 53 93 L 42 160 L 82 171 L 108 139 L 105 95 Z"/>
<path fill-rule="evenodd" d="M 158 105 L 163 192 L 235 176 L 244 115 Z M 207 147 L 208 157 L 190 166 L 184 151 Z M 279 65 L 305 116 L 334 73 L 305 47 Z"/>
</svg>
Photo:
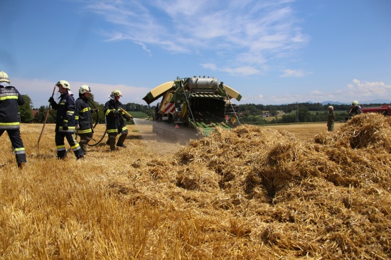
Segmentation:
<svg viewBox="0 0 391 260">
<path fill-rule="evenodd" d="M 88 103 L 90 93 L 90 86 L 82 85 L 79 90 L 79 97 L 75 101 L 76 131 L 80 136 L 79 143 L 84 155 L 87 153 L 87 144 L 91 141 L 92 136 L 94 135 L 91 113 L 99 112 L 98 109 L 91 109 L 90 103 Z"/>
</svg>

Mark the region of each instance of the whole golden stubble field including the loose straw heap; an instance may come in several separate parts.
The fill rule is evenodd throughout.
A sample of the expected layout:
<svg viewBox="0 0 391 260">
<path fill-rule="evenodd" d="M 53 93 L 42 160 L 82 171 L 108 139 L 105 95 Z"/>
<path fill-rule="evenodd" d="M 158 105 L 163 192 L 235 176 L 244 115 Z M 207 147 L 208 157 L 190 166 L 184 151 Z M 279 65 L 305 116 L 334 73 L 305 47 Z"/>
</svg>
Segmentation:
<svg viewBox="0 0 391 260">
<path fill-rule="evenodd" d="M 22 170 L 0 137 L 1 259 L 391 258 L 390 117 L 242 125 L 186 145 L 129 128 L 127 148 L 104 139 L 61 161 L 54 125 L 36 150 L 42 124 L 22 124 Z"/>
</svg>

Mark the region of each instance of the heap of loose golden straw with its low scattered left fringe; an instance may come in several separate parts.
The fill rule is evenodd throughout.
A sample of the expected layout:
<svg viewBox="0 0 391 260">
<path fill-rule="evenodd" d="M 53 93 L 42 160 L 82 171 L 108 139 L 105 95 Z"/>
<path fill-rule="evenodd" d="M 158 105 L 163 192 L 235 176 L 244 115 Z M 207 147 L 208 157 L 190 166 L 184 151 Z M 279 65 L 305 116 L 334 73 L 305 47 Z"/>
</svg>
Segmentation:
<svg viewBox="0 0 391 260">
<path fill-rule="evenodd" d="M 306 143 L 218 129 L 168 160 L 136 161 L 112 187 L 191 222 L 200 257 L 218 247 L 228 250 L 215 259 L 390 259 L 390 134 L 391 118 L 377 114 Z"/>
</svg>

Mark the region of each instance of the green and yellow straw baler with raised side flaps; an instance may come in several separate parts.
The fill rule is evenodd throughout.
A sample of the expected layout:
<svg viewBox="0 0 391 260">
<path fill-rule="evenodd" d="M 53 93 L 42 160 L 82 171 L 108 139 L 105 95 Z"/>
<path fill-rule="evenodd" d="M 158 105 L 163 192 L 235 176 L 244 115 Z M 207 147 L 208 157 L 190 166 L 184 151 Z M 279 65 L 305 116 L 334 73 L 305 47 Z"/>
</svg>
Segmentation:
<svg viewBox="0 0 391 260">
<path fill-rule="evenodd" d="M 237 105 L 230 99 L 240 101 L 242 96 L 215 77 L 177 77 L 151 90 L 143 99 L 151 104 L 161 97 L 156 105 L 154 121 L 167 123 L 171 129 L 187 127 L 198 135 L 208 136 L 215 127 L 231 129 L 240 121 Z M 158 135 L 170 135 L 167 124 L 154 124 Z"/>
</svg>

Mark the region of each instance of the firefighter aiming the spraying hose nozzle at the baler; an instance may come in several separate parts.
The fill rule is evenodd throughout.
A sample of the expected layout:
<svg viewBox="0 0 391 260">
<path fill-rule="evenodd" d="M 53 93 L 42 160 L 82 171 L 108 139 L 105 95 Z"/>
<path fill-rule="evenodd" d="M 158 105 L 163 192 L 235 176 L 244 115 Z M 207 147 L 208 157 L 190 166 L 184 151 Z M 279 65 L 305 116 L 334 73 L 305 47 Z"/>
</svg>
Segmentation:
<svg viewBox="0 0 391 260">
<path fill-rule="evenodd" d="M 122 108 L 122 103 L 119 102 L 119 98 L 122 97 L 122 93 L 119 90 L 112 91 L 112 94 L 109 97 L 110 100 L 105 104 L 106 127 L 107 134 L 109 135 L 109 139 L 106 143 L 109 144 L 110 150 L 114 151 L 116 145 L 117 147 L 127 147 L 124 145 L 124 141 L 127 138 L 128 129 L 124 118 L 129 121 L 130 117 L 120 110 Z M 115 141 L 118 134 L 121 135 L 116 144 Z"/>
</svg>

